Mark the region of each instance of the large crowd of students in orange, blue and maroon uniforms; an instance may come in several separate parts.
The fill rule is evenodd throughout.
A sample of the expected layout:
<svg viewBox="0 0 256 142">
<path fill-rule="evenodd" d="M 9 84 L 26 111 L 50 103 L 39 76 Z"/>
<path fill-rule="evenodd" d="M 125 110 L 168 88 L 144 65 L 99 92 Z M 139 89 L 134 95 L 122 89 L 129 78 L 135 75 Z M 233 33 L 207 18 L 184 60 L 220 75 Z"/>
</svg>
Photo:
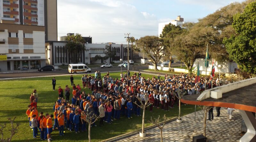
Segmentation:
<svg viewBox="0 0 256 142">
<path fill-rule="evenodd" d="M 149 106 L 150 112 L 153 112 L 153 107 L 168 111 L 169 108 L 174 108 L 175 103 L 179 105 L 178 98 L 173 95 L 177 89 L 183 90 L 186 95 L 200 93 L 205 89 L 204 79 L 201 77 L 200 81 L 195 83 L 195 76 L 188 74 L 174 76 L 166 74 L 164 79 L 160 78 L 160 75 L 145 78 L 141 76 L 140 72 L 131 75 L 130 71 L 125 72 L 124 75 L 121 73 L 120 79 L 112 78 L 109 73 L 101 78 L 97 71 L 95 76 L 82 75 L 82 86 L 80 86 L 74 84 L 74 78 L 71 76 L 71 89 L 68 85 L 65 90 L 59 86 L 59 97 L 54 102 L 53 115 L 47 113 L 44 116 L 41 112 L 38 116 L 36 90 L 31 94 L 31 104 L 28 105 L 26 114 L 29 125 L 33 129 L 33 137 L 36 138 L 38 129 L 41 133 L 41 140 L 50 142 L 52 130 L 58 129 L 60 136 L 64 135 L 64 128 L 75 131 L 75 133 L 85 131 L 86 122 L 82 113 L 100 116 L 99 126 L 103 125 L 103 122 L 111 124 L 112 121 L 120 119 L 120 115 L 131 119 L 132 116 L 141 115 L 141 109 L 138 106 L 140 105 L 139 99 L 145 103 L 145 97 L 148 97 L 152 104 Z M 220 85 L 220 80 L 217 78 L 211 81 L 207 77 L 206 80 L 206 88 L 211 88 L 211 82 L 213 87 Z M 86 94 L 81 88 L 89 88 L 92 93 Z M 64 95 L 66 99 L 64 99 Z M 97 125 L 93 123 L 92 126 L 96 127 Z"/>
</svg>

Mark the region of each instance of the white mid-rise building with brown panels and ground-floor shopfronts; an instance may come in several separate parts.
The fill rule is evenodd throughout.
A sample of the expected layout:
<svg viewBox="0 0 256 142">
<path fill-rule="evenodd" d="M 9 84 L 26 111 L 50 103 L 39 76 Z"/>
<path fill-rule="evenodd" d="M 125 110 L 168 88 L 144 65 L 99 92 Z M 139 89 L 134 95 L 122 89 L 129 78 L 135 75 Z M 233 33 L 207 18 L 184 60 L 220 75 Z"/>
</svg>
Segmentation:
<svg viewBox="0 0 256 142">
<path fill-rule="evenodd" d="M 44 26 L 0 23 L 0 72 L 45 66 L 44 31 Z"/>
</svg>

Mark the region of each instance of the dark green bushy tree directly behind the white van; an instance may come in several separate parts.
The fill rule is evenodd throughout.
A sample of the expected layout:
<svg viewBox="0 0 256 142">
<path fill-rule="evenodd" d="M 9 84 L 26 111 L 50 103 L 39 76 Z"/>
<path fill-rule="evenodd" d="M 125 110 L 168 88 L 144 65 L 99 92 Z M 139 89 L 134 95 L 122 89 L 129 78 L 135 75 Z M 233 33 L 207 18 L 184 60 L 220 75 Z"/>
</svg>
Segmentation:
<svg viewBox="0 0 256 142">
<path fill-rule="evenodd" d="M 81 52 L 84 52 L 85 40 L 81 34 L 70 35 L 66 38 L 69 56 L 71 56 L 71 62 L 77 64 L 80 61 Z M 80 61 L 81 62 L 81 61 Z"/>
</svg>

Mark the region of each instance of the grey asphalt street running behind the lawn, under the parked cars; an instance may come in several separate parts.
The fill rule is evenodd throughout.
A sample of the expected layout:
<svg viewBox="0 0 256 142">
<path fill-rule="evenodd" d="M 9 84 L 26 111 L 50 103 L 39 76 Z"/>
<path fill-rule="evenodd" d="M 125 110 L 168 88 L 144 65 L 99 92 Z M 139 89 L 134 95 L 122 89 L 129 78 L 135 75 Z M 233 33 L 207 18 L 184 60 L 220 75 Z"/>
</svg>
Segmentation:
<svg viewBox="0 0 256 142">
<path fill-rule="evenodd" d="M 148 69 L 148 66 L 130 66 L 130 70 L 142 70 Z M 126 68 L 122 67 L 122 70 L 126 70 Z M 106 71 L 121 71 L 121 68 L 97 68 L 92 69 L 92 73 L 95 71 L 106 72 Z M 47 76 L 47 75 L 61 75 L 61 74 L 69 74 L 68 70 L 64 71 L 35 71 L 35 72 L 22 72 L 22 73 L 1 73 L 0 78 L 18 78 L 18 77 L 31 77 L 31 76 Z"/>
</svg>

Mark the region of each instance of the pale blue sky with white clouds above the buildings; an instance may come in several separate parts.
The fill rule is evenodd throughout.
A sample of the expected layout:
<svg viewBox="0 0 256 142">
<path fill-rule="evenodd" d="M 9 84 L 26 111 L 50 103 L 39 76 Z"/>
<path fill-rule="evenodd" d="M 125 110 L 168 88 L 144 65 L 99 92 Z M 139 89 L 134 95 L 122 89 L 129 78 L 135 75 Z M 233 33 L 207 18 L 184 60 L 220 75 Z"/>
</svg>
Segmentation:
<svg viewBox="0 0 256 142">
<path fill-rule="evenodd" d="M 92 43 L 126 44 L 124 34 L 135 39 L 158 35 L 158 23 L 181 16 L 197 22 L 232 2 L 243 0 L 58 0 L 58 37 L 67 33 L 91 36 Z"/>
</svg>

